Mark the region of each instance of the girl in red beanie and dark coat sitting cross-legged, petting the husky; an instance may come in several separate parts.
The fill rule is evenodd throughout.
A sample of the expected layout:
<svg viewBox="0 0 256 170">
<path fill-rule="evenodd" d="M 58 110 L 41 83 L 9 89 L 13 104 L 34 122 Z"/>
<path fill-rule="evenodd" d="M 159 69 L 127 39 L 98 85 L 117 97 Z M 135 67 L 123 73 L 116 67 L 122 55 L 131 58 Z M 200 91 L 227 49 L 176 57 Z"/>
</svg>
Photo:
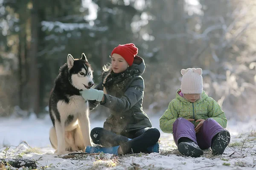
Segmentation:
<svg viewBox="0 0 256 170">
<path fill-rule="evenodd" d="M 111 53 L 111 65 L 103 67 L 102 82 L 96 88 L 81 91 L 89 100 L 90 110 L 97 105 L 110 109 L 110 116 L 102 127 L 91 130 L 93 143 L 102 147 L 87 146 L 87 153 L 159 153 L 160 132 L 153 128 L 143 111 L 144 60 L 137 56 L 133 44 L 118 45 Z"/>
</svg>

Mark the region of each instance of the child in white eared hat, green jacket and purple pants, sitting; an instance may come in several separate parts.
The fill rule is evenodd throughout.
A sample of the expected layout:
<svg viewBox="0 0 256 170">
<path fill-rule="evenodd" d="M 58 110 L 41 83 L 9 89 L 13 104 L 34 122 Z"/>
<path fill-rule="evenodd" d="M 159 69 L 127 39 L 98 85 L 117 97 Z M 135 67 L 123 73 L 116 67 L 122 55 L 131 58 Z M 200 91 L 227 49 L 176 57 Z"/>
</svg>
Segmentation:
<svg viewBox="0 0 256 170">
<path fill-rule="evenodd" d="M 173 133 L 178 150 L 185 156 L 199 157 L 211 147 L 222 154 L 230 142 L 225 113 L 203 91 L 201 68 L 182 69 L 181 87 L 160 118 L 160 128 Z"/>
</svg>

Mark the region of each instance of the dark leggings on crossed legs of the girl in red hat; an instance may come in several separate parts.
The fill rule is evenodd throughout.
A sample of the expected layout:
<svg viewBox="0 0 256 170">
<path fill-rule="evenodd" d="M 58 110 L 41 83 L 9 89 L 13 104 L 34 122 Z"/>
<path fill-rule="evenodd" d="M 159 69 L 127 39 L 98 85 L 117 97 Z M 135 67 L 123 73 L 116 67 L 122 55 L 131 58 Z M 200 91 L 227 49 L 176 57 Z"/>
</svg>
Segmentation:
<svg viewBox="0 0 256 170">
<path fill-rule="evenodd" d="M 125 136 L 117 135 L 102 127 L 95 127 L 90 133 L 93 143 L 103 147 L 120 145 L 124 154 L 127 153 L 148 153 L 147 148 L 158 142 L 160 132 L 157 128 L 145 127 L 125 133 Z M 132 140 L 128 140 L 128 138 Z"/>
</svg>

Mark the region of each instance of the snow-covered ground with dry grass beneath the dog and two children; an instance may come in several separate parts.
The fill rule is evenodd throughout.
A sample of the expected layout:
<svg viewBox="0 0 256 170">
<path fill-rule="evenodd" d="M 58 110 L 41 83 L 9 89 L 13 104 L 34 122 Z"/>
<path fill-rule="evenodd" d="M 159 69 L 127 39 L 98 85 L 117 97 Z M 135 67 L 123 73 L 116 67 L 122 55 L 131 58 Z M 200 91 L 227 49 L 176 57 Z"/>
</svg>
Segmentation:
<svg viewBox="0 0 256 170">
<path fill-rule="evenodd" d="M 150 117 L 153 127 L 160 130 L 159 118 L 159 116 Z M 103 119 L 91 120 L 91 128 L 102 127 L 103 122 Z M 231 134 L 230 147 L 227 147 L 221 156 L 212 156 L 211 151 L 206 150 L 199 158 L 181 156 L 172 135 L 160 130 L 160 153 L 140 153 L 120 157 L 93 154 L 63 159 L 54 155 L 54 150 L 50 146 L 48 133 L 51 126 L 49 116 L 44 119 L 36 119 L 35 116 L 30 116 L 29 119 L 0 118 L 0 158 L 32 159 L 37 162 L 38 169 L 256 169 L 256 119 L 246 123 L 230 120 L 227 127 Z M 30 147 L 26 143 L 21 143 L 22 141 L 27 142 Z"/>
</svg>

